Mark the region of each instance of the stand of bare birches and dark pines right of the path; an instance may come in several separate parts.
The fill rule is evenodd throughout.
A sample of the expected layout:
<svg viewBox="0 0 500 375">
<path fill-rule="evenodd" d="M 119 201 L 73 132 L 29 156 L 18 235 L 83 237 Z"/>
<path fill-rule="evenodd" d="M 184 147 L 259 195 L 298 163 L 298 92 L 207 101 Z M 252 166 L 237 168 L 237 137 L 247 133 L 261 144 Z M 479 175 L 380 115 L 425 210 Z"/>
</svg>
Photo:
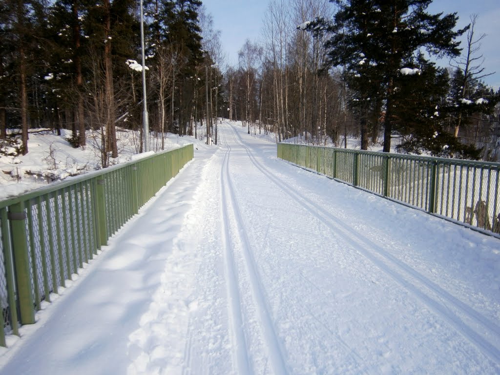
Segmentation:
<svg viewBox="0 0 500 375">
<path fill-rule="evenodd" d="M 477 16 L 457 29 L 456 13 L 429 14 L 430 2 L 270 1 L 262 40 L 227 73 L 232 113 L 278 141 L 355 136 L 361 149 L 498 160 L 500 91 L 482 80 Z"/>
</svg>

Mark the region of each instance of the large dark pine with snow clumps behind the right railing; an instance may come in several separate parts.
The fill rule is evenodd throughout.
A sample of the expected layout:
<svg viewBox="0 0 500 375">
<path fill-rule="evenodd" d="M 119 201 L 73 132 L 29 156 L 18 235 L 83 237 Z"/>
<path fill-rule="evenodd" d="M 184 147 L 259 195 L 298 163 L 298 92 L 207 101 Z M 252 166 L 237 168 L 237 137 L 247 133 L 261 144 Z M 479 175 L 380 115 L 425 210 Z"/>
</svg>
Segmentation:
<svg viewBox="0 0 500 375">
<path fill-rule="evenodd" d="M 368 80 L 370 91 L 383 89 L 380 97 L 385 105 L 383 151 L 390 150 L 392 130 L 396 127 L 395 81 L 401 69 L 412 61 L 419 48 L 430 55 L 456 56 L 455 39 L 465 29 L 453 31 L 456 13 L 428 14 L 430 0 L 337 1 L 339 10 L 329 31 L 327 42 L 329 63 L 345 64 L 352 75 Z M 362 55 L 361 55 L 362 54 Z M 359 66 L 373 66 L 363 71 Z"/>
</svg>

